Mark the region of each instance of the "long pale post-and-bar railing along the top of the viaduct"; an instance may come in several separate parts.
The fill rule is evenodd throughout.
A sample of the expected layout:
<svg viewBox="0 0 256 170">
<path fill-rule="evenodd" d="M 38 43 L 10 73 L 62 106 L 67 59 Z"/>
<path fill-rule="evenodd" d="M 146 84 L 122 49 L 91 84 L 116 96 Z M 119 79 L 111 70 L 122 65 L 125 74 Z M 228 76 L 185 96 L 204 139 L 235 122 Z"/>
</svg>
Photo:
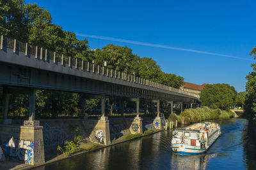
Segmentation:
<svg viewBox="0 0 256 170">
<path fill-rule="evenodd" d="M 44 61 L 52 60 L 52 62 L 54 63 L 59 62 L 61 65 L 75 67 L 76 69 L 81 69 L 83 71 L 88 71 L 90 73 L 96 73 L 102 76 L 109 76 L 111 78 L 116 78 L 122 81 L 130 81 L 132 83 L 146 85 L 149 87 L 154 87 L 156 89 L 163 89 L 163 90 L 168 90 L 172 92 L 177 92 L 180 94 L 193 96 L 199 99 L 198 94 L 193 94 L 190 92 L 186 92 L 184 90 L 175 89 L 173 87 L 169 87 L 161 83 L 147 80 L 145 78 L 140 78 L 138 76 L 116 71 L 114 69 L 109 69 L 108 67 L 99 66 L 97 64 L 88 62 L 86 60 L 63 55 L 57 52 L 51 52 L 50 50 L 47 50 L 46 48 L 42 48 L 41 46 L 30 45 L 28 43 L 24 43 L 22 41 L 18 41 L 16 39 L 8 38 L 7 36 L 2 35 L 0 37 L 0 50 L 3 50 L 3 47 L 13 49 L 14 53 L 17 50 L 20 52 L 24 52 L 25 55 L 28 55 L 28 54 L 35 55 L 36 59 L 40 59 Z"/>
</svg>

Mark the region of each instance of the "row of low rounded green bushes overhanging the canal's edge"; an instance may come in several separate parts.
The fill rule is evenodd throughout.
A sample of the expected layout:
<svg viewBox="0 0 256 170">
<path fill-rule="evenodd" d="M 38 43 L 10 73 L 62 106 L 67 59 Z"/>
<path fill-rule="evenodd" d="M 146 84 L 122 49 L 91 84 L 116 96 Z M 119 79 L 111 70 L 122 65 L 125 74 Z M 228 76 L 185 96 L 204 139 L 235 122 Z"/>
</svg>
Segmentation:
<svg viewBox="0 0 256 170">
<path fill-rule="evenodd" d="M 218 119 L 218 118 L 232 118 L 234 113 L 232 111 L 211 109 L 206 106 L 184 110 L 180 115 L 172 113 L 168 118 L 169 121 L 175 122 L 178 120 L 179 124 L 193 124 L 202 122 L 204 120 Z"/>
</svg>

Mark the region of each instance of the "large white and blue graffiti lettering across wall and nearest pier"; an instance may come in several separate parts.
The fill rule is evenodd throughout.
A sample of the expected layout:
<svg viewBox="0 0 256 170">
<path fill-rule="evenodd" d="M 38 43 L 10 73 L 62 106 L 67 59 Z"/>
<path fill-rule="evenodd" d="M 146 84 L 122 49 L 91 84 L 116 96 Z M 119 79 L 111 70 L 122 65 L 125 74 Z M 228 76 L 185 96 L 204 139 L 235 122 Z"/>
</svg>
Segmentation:
<svg viewBox="0 0 256 170">
<path fill-rule="evenodd" d="M 23 139 L 6 139 L 5 152 L 10 157 L 31 164 L 34 157 L 34 142 Z"/>
</svg>

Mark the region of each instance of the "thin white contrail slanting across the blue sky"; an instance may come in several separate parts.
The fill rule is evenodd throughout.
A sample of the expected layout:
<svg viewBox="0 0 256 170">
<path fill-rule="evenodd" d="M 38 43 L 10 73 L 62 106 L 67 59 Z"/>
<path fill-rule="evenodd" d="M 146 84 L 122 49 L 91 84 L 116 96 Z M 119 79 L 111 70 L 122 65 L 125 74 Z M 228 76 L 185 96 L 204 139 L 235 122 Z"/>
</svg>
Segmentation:
<svg viewBox="0 0 256 170">
<path fill-rule="evenodd" d="M 166 45 L 157 45 L 157 44 L 151 44 L 151 43 L 143 43 L 143 42 L 140 42 L 140 41 L 131 41 L 131 40 L 127 40 L 127 39 L 112 38 L 112 37 L 108 37 L 108 36 L 95 36 L 95 35 L 90 35 L 90 34 L 81 34 L 81 33 L 78 33 L 78 32 L 76 32 L 76 35 L 77 36 L 88 37 L 88 38 L 104 39 L 104 40 L 109 40 L 109 41 L 117 41 L 117 42 L 121 42 L 121 43 L 129 43 L 129 44 L 134 44 L 134 45 L 154 46 L 154 47 L 158 47 L 158 48 L 166 48 L 166 49 L 180 50 L 180 51 L 186 51 L 186 52 L 205 53 L 205 54 L 209 54 L 209 55 L 219 55 L 219 56 L 230 57 L 230 58 L 234 58 L 234 59 L 252 60 L 252 59 L 246 59 L 246 58 L 243 58 L 243 57 L 225 55 L 225 54 L 221 54 L 221 53 L 204 52 L 204 51 L 192 50 L 192 49 L 188 49 L 188 48 L 179 48 L 179 47 L 175 47 L 175 46 L 166 46 Z"/>
</svg>

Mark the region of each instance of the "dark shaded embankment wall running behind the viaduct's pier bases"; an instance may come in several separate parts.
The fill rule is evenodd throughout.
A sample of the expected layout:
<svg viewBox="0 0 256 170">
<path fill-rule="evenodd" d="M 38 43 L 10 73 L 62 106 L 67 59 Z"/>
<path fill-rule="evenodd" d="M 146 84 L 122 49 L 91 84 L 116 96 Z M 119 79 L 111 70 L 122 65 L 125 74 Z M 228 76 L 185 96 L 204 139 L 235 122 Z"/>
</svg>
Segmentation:
<svg viewBox="0 0 256 170">
<path fill-rule="evenodd" d="M 134 118 L 109 119 L 110 141 L 120 138 L 121 136 L 131 134 L 130 127 L 133 120 Z M 31 152 L 31 148 L 33 147 L 32 145 L 44 145 L 45 160 L 52 159 L 52 157 L 57 155 L 56 148 L 58 145 L 62 145 L 64 141 L 74 139 L 74 132 L 70 131 L 70 125 L 78 126 L 78 132 L 76 132 L 76 135 L 83 136 L 84 142 L 93 141 L 95 143 L 104 144 L 104 141 L 100 138 L 90 138 L 90 136 L 95 136 L 96 133 L 100 133 L 100 130 L 95 131 L 95 126 L 99 122 L 98 120 L 82 120 L 77 118 L 40 120 L 40 125 L 44 127 L 44 144 L 35 144 L 35 141 L 20 140 L 20 126 L 23 125 L 23 122 L 23 120 L 13 120 L 12 125 L 0 125 L 1 148 L 4 153 L 8 153 L 8 156 L 17 160 L 28 160 L 29 154 L 30 156 L 34 154 Z M 143 131 L 154 129 L 152 122 L 153 120 L 151 118 L 143 118 Z M 102 138 L 104 138 L 104 134 L 102 134 Z M 15 149 L 11 148 L 9 145 L 15 146 Z"/>
</svg>

